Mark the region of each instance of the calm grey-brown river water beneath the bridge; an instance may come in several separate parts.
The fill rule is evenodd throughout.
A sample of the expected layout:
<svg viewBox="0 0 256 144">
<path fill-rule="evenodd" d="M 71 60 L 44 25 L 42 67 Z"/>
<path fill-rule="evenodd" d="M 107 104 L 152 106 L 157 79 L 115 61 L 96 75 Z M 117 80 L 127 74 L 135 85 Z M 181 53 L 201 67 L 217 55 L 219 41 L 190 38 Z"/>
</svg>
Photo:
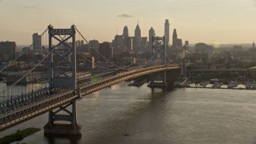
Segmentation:
<svg viewBox="0 0 256 144">
<path fill-rule="evenodd" d="M 77 102 L 80 137 L 45 136 L 47 114 L 6 130 L 39 127 L 26 143 L 256 143 L 256 91 L 218 89 L 151 90 L 129 82 Z M 16 142 L 14 142 L 16 143 Z"/>
</svg>

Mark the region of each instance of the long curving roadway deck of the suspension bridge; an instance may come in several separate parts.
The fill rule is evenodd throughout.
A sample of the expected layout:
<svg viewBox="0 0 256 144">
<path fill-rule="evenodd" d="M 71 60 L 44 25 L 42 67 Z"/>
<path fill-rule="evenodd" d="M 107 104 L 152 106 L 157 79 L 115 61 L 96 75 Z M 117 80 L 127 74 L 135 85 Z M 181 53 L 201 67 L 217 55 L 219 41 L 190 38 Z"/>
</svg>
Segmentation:
<svg viewBox="0 0 256 144">
<path fill-rule="evenodd" d="M 178 65 L 151 66 L 137 68 L 121 72 L 110 72 L 99 74 L 98 79 L 89 82 L 89 78 L 78 79 L 77 90 L 64 90 L 56 88 L 48 90 L 44 88 L 30 94 L 24 94 L 15 98 L 10 98 L 0 102 L 0 131 L 6 130 L 18 123 L 25 122 L 49 110 L 53 110 L 86 94 L 101 90 L 107 86 L 112 86 L 119 82 L 137 78 L 142 75 L 152 74 L 163 70 L 177 70 Z"/>
</svg>

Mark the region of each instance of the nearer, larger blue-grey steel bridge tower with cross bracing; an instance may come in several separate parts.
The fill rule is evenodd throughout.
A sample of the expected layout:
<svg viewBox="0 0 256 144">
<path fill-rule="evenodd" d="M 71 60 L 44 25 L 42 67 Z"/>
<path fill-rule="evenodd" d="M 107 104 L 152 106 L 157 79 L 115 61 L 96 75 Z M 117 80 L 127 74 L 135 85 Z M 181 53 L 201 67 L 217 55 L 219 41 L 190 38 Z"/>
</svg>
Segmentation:
<svg viewBox="0 0 256 144">
<path fill-rule="evenodd" d="M 49 33 L 49 90 L 51 92 L 61 90 L 73 90 L 77 93 L 76 81 L 76 27 L 70 29 L 54 29 L 48 26 Z M 57 42 L 52 45 L 53 39 Z M 70 42 L 71 41 L 71 42 Z M 71 111 L 67 108 L 71 106 Z M 64 112 L 66 114 L 59 114 Z M 58 110 L 49 111 L 49 122 L 44 126 L 45 134 L 81 134 L 81 126 L 77 122 L 76 99 Z M 66 121 L 70 124 L 55 123 L 56 121 Z"/>
</svg>

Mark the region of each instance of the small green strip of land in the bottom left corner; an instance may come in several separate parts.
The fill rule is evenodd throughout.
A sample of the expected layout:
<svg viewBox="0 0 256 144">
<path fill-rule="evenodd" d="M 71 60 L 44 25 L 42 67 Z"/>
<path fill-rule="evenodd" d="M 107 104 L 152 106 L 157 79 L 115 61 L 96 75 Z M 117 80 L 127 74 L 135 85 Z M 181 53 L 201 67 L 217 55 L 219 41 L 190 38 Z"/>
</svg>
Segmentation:
<svg viewBox="0 0 256 144">
<path fill-rule="evenodd" d="M 15 141 L 21 140 L 22 138 L 25 138 L 31 134 L 34 134 L 40 130 L 41 129 L 39 129 L 39 128 L 26 128 L 24 130 L 17 130 L 17 132 L 14 134 L 10 134 L 3 138 L 0 138 L 0 143 L 6 144 L 6 143 L 10 143 L 10 142 L 15 142 Z"/>
</svg>

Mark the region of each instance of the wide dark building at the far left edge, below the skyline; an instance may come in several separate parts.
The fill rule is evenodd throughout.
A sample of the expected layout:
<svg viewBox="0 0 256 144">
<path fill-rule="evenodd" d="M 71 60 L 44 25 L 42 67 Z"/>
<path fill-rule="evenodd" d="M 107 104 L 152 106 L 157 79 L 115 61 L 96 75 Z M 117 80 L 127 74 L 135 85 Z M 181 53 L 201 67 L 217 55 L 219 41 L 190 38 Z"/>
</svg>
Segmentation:
<svg viewBox="0 0 256 144">
<path fill-rule="evenodd" d="M 2 62 L 13 60 L 15 58 L 15 53 L 15 42 L 0 42 L 0 59 Z"/>
</svg>

